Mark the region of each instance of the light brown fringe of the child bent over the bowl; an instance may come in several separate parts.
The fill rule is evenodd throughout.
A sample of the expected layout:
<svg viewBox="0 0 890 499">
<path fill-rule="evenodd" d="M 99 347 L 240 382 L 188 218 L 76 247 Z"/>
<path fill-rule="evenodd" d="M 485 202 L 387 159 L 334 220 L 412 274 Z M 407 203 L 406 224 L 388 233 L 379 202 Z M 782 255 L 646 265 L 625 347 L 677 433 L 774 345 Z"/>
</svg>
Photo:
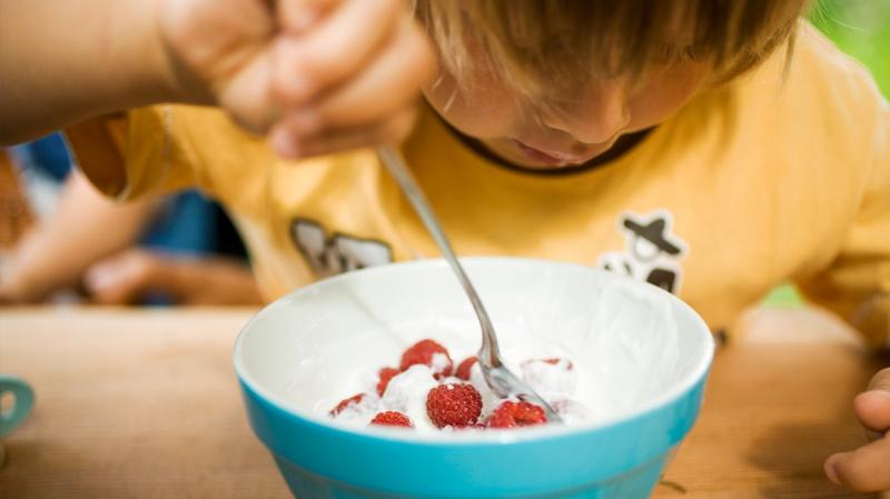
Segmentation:
<svg viewBox="0 0 890 499">
<path fill-rule="evenodd" d="M 789 38 L 793 41 L 807 0 L 412 3 L 439 49 L 443 68 L 457 81 L 483 69 L 535 96 L 544 80 L 552 88 L 554 82 L 577 81 L 585 73 L 639 76 L 665 50 L 670 58 L 708 60 L 716 79 L 728 80 Z"/>
</svg>

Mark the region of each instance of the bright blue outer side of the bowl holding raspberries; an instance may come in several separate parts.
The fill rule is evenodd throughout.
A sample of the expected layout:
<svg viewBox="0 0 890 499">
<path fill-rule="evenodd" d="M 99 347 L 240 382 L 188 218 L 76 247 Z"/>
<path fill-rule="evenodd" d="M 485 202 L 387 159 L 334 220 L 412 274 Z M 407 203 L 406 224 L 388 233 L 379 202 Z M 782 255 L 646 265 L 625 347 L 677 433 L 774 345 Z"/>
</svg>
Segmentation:
<svg viewBox="0 0 890 499">
<path fill-rule="evenodd" d="M 408 443 L 322 425 L 241 389 L 254 431 L 299 499 L 633 499 L 649 496 L 692 428 L 705 379 L 625 420 L 511 443 Z"/>
</svg>

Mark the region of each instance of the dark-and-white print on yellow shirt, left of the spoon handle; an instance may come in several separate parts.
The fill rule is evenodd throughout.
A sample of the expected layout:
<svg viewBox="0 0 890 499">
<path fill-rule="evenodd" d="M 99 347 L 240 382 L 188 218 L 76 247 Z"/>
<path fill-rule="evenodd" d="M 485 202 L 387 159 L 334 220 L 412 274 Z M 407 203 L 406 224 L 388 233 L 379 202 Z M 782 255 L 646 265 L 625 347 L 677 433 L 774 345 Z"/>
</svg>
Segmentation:
<svg viewBox="0 0 890 499">
<path fill-rule="evenodd" d="M 290 238 L 320 277 L 393 261 L 393 250 L 386 242 L 340 232 L 328 237 L 320 223 L 305 218 L 296 218 L 290 222 Z"/>
</svg>

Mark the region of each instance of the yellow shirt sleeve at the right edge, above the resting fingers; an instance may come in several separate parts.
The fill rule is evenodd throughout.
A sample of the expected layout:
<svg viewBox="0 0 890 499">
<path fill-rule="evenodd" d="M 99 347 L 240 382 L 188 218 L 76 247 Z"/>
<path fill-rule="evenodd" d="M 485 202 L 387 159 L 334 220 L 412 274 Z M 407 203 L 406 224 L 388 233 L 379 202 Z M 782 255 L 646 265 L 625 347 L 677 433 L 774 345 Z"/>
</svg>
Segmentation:
<svg viewBox="0 0 890 499">
<path fill-rule="evenodd" d="M 832 263 L 799 285 L 873 346 L 890 348 L 890 106 L 877 97 L 871 110 L 877 118 L 862 123 L 867 168 L 856 193 L 859 209 Z"/>
</svg>

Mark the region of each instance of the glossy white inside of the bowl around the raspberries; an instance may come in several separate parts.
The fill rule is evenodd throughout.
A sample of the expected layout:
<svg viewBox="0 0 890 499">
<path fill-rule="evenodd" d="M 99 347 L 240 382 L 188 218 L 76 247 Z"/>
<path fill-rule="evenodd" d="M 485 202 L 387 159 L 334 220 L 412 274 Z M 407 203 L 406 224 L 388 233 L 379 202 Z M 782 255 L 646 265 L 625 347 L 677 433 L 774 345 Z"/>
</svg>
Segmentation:
<svg viewBox="0 0 890 499">
<path fill-rule="evenodd" d="M 650 285 L 583 267 L 467 259 L 507 363 L 567 357 L 592 421 L 642 411 L 689 388 L 710 363 L 704 322 Z M 243 332 L 236 365 L 278 403 L 324 419 L 413 342 L 433 338 L 455 363 L 478 348 L 473 309 L 439 260 L 367 269 L 298 290 Z"/>
</svg>

